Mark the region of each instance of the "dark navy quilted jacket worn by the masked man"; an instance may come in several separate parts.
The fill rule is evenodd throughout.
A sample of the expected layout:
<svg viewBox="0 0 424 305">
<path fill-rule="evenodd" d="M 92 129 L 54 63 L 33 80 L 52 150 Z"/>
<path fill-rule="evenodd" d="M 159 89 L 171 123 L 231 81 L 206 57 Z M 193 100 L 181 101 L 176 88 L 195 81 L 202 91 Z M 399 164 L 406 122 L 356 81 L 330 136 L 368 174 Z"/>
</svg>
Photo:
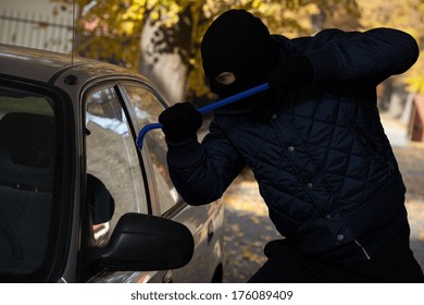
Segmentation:
<svg viewBox="0 0 424 305">
<path fill-rule="evenodd" d="M 407 71 L 417 45 L 389 28 L 273 39 L 280 56 L 309 58 L 313 82 L 275 94 L 266 121 L 249 107 L 224 108 L 201 144 L 169 143 L 174 184 L 187 203 L 203 205 L 248 166 L 276 229 L 303 253 L 370 259 L 409 230 L 406 188 L 381 123 L 376 85 Z"/>
</svg>

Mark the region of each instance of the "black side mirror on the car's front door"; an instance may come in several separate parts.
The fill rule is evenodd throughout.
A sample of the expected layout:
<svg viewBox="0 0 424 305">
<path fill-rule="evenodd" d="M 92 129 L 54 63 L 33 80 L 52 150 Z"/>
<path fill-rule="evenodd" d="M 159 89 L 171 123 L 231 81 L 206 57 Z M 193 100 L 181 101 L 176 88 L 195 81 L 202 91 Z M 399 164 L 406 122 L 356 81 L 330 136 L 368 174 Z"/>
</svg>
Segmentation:
<svg viewBox="0 0 424 305">
<path fill-rule="evenodd" d="M 153 271 L 187 265 L 194 253 L 191 232 L 182 223 L 151 215 L 125 213 L 108 246 L 98 248 L 100 267 L 110 271 Z"/>
</svg>

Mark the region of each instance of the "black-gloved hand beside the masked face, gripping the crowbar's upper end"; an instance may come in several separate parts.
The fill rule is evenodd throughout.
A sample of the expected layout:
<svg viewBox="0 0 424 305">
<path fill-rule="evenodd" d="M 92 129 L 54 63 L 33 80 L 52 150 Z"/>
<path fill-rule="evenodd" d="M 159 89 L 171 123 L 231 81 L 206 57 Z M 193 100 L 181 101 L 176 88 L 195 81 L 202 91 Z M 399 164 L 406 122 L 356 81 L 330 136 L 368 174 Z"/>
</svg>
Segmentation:
<svg viewBox="0 0 424 305">
<path fill-rule="evenodd" d="M 271 88 L 290 90 L 308 85 L 313 80 L 313 68 L 304 56 L 285 57 L 270 71 Z"/>
</svg>

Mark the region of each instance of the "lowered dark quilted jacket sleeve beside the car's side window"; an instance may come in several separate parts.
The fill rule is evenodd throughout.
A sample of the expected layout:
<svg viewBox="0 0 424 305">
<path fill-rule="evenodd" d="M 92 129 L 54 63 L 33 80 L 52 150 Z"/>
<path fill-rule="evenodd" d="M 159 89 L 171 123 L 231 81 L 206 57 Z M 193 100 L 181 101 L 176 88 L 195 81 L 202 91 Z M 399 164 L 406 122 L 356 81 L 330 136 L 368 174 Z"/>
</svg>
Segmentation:
<svg viewBox="0 0 424 305">
<path fill-rule="evenodd" d="M 175 188 L 189 205 L 220 198 L 246 166 L 220 127 L 211 123 L 201 144 L 196 138 L 167 142 L 167 164 Z"/>
</svg>

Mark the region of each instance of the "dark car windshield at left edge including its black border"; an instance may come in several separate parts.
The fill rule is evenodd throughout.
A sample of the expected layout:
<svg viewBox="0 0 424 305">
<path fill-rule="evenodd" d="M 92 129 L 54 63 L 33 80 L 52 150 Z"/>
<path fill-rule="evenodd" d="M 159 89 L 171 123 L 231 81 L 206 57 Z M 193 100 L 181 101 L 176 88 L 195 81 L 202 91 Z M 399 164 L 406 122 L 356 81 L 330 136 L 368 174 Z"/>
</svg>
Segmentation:
<svg viewBox="0 0 424 305">
<path fill-rule="evenodd" d="M 0 77 L 0 282 L 51 281 L 61 270 L 66 102 L 51 88 Z"/>
</svg>

